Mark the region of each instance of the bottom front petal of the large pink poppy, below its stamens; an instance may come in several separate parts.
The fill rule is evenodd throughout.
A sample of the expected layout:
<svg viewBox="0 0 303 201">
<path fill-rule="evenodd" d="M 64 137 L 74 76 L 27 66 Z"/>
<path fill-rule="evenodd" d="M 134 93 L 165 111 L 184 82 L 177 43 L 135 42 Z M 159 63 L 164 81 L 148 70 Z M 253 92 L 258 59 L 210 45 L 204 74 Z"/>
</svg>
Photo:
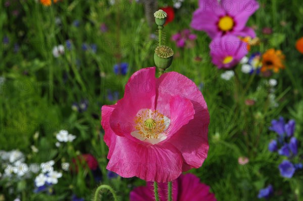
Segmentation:
<svg viewBox="0 0 303 201">
<path fill-rule="evenodd" d="M 116 137 L 107 169 L 121 177 L 139 177 L 145 181 L 168 182 L 182 173 L 182 157 L 170 143 L 146 146 L 127 137 Z"/>
</svg>

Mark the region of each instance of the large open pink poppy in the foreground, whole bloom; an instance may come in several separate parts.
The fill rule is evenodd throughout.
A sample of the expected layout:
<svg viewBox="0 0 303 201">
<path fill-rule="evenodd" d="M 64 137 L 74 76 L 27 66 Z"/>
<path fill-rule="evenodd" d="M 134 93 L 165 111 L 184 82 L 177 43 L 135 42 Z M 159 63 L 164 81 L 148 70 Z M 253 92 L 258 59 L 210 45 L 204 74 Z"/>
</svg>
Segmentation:
<svg viewBox="0 0 303 201">
<path fill-rule="evenodd" d="M 209 112 L 187 77 L 156 68 L 135 72 L 117 104 L 102 107 L 107 169 L 122 177 L 168 182 L 207 158 Z"/>
</svg>

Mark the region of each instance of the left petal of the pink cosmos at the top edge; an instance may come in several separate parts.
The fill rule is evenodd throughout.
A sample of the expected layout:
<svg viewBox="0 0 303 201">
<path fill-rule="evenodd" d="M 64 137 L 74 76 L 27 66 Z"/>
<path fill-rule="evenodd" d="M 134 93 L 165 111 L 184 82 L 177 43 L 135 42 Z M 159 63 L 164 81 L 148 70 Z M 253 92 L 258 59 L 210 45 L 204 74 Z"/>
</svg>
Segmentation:
<svg viewBox="0 0 303 201">
<path fill-rule="evenodd" d="M 197 9 L 193 13 L 190 26 L 195 30 L 205 31 L 211 38 L 215 38 L 222 34 L 217 27 L 218 20 L 219 16 L 217 16 L 214 12 Z"/>
</svg>

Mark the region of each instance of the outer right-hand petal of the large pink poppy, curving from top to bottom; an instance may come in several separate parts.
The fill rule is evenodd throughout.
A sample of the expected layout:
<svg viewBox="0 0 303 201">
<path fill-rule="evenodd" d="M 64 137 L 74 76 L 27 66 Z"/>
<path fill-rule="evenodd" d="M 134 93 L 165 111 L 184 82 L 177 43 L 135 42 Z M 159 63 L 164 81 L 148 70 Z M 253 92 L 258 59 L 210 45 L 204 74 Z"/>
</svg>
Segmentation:
<svg viewBox="0 0 303 201">
<path fill-rule="evenodd" d="M 167 98 L 174 95 L 182 95 L 191 101 L 195 111 L 194 118 L 166 142 L 180 150 L 183 161 L 188 165 L 183 166 L 186 170 L 201 167 L 207 158 L 209 149 L 207 135 L 210 122 L 202 93 L 194 82 L 177 72 L 164 73 L 157 80 L 157 87 L 159 90 L 158 105 L 159 102 L 167 102 Z"/>
</svg>

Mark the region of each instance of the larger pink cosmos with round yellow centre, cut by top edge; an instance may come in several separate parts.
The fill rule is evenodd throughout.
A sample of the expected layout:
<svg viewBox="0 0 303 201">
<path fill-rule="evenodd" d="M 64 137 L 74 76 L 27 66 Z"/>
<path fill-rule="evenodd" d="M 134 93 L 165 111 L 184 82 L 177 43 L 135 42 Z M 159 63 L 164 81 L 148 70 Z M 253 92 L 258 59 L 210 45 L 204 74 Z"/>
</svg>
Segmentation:
<svg viewBox="0 0 303 201">
<path fill-rule="evenodd" d="M 199 0 L 190 26 L 205 31 L 213 39 L 225 34 L 256 37 L 253 29 L 245 27 L 248 18 L 259 9 L 256 0 Z"/>
</svg>

